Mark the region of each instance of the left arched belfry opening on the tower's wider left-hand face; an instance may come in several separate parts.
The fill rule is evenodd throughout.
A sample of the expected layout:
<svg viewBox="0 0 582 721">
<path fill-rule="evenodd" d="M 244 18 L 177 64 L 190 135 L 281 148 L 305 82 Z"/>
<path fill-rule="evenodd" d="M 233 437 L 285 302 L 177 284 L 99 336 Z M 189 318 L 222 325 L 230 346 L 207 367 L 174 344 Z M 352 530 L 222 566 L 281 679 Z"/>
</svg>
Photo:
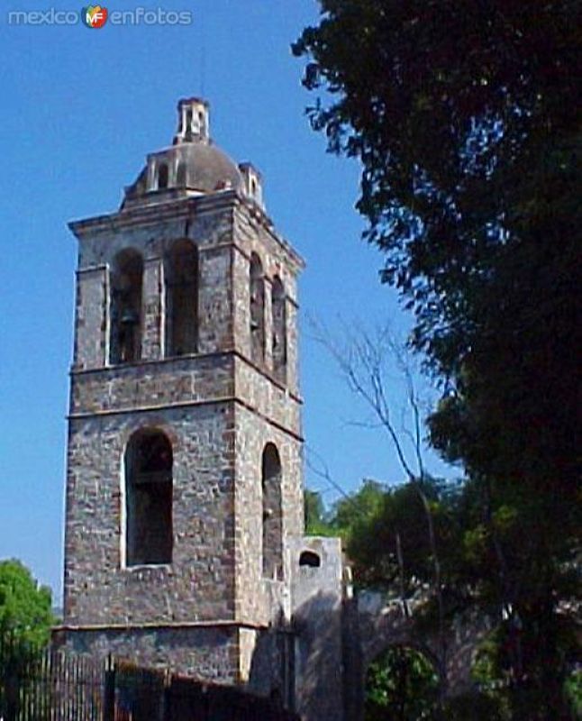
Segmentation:
<svg viewBox="0 0 582 721">
<path fill-rule="evenodd" d="M 111 363 L 141 358 L 141 285 L 143 260 L 137 251 L 117 254 L 111 277 Z"/>
</svg>

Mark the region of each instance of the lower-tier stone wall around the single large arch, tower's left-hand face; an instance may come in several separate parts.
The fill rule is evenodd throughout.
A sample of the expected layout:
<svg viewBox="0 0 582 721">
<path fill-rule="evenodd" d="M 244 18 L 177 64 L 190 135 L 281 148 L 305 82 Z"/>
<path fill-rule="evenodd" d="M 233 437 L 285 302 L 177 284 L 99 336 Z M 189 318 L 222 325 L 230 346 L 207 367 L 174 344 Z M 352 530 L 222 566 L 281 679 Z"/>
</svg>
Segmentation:
<svg viewBox="0 0 582 721">
<path fill-rule="evenodd" d="M 173 562 L 125 568 L 123 453 L 144 427 L 173 447 Z M 232 403 L 71 421 L 66 624 L 232 619 L 233 449 Z"/>
</svg>

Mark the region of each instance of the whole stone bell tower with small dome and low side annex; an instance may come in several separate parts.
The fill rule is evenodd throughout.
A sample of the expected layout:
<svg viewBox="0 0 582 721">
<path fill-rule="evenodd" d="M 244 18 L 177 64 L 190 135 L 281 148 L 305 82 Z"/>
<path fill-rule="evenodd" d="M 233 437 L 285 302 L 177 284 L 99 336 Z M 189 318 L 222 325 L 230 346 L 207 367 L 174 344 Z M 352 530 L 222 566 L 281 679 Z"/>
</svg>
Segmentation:
<svg viewBox="0 0 582 721">
<path fill-rule="evenodd" d="M 343 718 L 338 539 L 304 537 L 297 276 L 260 173 L 178 104 L 79 243 L 62 643 Z"/>
</svg>

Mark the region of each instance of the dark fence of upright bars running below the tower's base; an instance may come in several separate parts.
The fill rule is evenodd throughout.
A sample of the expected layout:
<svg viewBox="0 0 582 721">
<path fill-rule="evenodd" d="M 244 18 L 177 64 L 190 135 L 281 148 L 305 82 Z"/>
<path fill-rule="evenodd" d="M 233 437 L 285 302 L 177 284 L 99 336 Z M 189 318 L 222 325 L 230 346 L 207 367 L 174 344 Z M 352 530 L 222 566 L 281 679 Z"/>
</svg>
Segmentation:
<svg viewBox="0 0 582 721">
<path fill-rule="evenodd" d="M 268 698 L 0 640 L 0 721 L 299 721 Z"/>
</svg>

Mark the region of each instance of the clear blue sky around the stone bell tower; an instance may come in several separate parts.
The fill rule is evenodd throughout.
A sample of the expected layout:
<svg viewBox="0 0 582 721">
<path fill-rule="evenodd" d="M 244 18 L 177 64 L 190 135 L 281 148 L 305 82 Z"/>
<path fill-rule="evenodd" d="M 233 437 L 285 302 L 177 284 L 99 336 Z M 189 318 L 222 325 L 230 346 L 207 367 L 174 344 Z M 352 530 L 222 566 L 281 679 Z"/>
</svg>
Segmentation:
<svg viewBox="0 0 582 721">
<path fill-rule="evenodd" d="M 107 3 L 109 12 L 141 5 Z M 325 153 L 309 128 L 302 63 L 289 45 L 316 23 L 314 0 L 168 0 L 188 27 L 8 25 L 9 10 L 79 11 L 68 2 L 11 2 L 0 11 L 0 559 L 17 557 L 59 602 L 64 460 L 76 242 L 67 222 L 114 211 L 149 151 L 171 141 L 181 96 L 211 102 L 214 140 L 265 178 L 268 213 L 307 260 L 301 281 L 307 443 L 350 490 L 403 479 L 305 314 L 333 328 L 407 323 L 377 279 L 382 257 L 360 240 L 356 163 Z M 399 402 L 395 385 L 395 402 Z M 307 485 L 335 497 L 306 472 Z"/>
</svg>

